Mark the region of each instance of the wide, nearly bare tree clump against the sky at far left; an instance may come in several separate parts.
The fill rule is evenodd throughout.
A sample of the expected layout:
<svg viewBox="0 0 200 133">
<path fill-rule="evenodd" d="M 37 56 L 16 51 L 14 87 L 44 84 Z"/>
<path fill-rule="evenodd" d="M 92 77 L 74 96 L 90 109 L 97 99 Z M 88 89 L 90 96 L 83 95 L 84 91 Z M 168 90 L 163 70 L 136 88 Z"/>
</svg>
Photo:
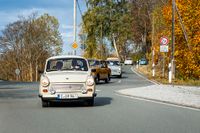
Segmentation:
<svg viewBox="0 0 200 133">
<path fill-rule="evenodd" d="M 28 18 L 7 25 L 0 37 L 2 69 L 7 79 L 15 79 L 14 70 L 21 70 L 23 81 L 38 80 L 38 69 L 43 69 L 46 58 L 61 52 L 62 39 L 55 17 L 35 13 Z M 10 74 L 9 74 L 10 73 Z"/>
</svg>

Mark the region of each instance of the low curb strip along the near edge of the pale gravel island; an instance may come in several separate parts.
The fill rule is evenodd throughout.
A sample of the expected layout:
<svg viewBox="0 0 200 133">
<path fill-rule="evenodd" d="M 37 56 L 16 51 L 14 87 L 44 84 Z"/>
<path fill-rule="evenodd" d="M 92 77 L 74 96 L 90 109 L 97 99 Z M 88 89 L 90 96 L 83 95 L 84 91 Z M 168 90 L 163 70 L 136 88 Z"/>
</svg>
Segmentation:
<svg viewBox="0 0 200 133">
<path fill-rule="evenodd" d="M 125 97 L 129 97 L 129 98 L 133 98 L 133 99 L 137 99 L 137 100 L 147 100 L 147 101 L 151 101 L 151 102 L 157 102 L 160 104 L 168 104 L 168 105 L 174 105 L 174 106 L 178 106 L 178 107 L 182 107 L 182 108 L 189 108 L 189 109 L 193 109 L 193 110 L 197 110 L 200 111 L 200 106 L 192 106 L 192 105 L 187 105 L 187 104 L 179 104 L 179 103 L 174 103 L 174 102 L 170 102 L 170 101 L 162 101 L 162 100 L 158 100 L 158 99 L 152 99 L 152 98 L 146 98 L 146 97 L 140 97 L 140 96 L 133 96 L 130 94 L 123 94 L 121 92 L 115 91 L 116 94 L 120 95 L 120 96 L 125 96 Z"/>
</svg>

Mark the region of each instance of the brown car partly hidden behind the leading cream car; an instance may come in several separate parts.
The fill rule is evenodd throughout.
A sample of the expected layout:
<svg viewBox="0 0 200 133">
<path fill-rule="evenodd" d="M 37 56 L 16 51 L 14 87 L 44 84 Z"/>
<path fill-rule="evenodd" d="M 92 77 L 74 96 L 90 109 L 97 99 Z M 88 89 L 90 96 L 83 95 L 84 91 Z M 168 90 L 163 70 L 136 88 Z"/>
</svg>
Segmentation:
<svg viewBox="0 0 200 133">
<path fill-rule="evenodd" d="M 88 59 L 88 62 L 92 69 L 92 76 L 94 77 L 96 84 L 98 84 L 100 80 L 104 80 L 105 83 L 110 81 L 111 70 L 108 68 L 106 61 Z"/>
</svg>

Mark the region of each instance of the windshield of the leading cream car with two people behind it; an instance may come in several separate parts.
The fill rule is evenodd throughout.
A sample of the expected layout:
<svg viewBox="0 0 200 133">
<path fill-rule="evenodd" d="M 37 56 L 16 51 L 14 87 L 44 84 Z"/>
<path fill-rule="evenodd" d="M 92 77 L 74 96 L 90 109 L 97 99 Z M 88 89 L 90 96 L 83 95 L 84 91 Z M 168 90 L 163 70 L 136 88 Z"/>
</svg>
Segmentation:
<svg viewBox="0 0 200 133">
<path fill-rule="evenodd" d="M 46 71 L 88 71 L 87 62 L 81 58 L 51 59 L 47 62 Z"/>
</svg>

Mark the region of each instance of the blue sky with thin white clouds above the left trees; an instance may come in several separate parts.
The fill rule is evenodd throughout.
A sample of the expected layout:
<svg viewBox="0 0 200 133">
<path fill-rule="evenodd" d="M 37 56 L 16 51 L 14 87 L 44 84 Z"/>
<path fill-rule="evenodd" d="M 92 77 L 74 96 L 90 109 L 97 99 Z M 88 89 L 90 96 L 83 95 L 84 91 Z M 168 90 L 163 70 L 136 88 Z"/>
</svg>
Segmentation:
<svg viewBox="0 0 200 133">
<path fill-rule="evenodd" d="M 82 12 L 86 11 L 85 0 L 78 0 Z M 55 16 L 60 23 L 64 54 L 71 52 L 73 43 L 73 11 L 74 0 L 0 0 L 0 31 L 9 23 L 18 20 L 18 16 L 29 16 L 33 12 L 39 15 L 48 13 Z M 77 25 L 81 23 L 81 15 L 77 6 Z M 79 30 L 79 28 L 78 28 Z M 78 37 L 77 37 L 78 38 Z M 81 50 L 77 50 L 78 54 Z"/>
</svg>

